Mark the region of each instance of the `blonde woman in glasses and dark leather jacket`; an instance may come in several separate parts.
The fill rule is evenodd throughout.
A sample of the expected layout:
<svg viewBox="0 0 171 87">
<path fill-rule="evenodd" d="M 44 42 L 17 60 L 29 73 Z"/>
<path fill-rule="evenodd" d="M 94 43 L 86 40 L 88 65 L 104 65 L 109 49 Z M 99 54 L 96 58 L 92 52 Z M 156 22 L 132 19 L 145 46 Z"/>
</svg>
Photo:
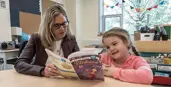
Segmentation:
<svg viewBox="0 0 171 87">
<path fill-rule="evenodd" d="M 14 66 L 16 71 L 34 76 L 58 76 L 58 70 L 48 62 L 45 48 L 65 58 L 79 51 L 76 39 L 69 29 L 66 12 L 61 5 L 53 5 L 46 10 L 39 32 L 32 34 Z"/>
</svg>

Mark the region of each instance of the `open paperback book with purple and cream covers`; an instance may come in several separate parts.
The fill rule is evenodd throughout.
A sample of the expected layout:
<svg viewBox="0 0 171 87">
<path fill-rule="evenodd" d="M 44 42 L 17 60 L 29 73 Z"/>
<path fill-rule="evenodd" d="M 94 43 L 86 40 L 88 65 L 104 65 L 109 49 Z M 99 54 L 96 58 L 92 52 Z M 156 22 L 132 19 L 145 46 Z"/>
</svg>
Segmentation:
<svg viewBox="0 0 171 87">
<path fill-rule="evenodd" d="M 48 58 L 64 78 L 83 80 L 104 80 L 100 57 L 91 51 L 78 51 L 68 58 L 60 57 L 45 49 Z"/>
</svg>

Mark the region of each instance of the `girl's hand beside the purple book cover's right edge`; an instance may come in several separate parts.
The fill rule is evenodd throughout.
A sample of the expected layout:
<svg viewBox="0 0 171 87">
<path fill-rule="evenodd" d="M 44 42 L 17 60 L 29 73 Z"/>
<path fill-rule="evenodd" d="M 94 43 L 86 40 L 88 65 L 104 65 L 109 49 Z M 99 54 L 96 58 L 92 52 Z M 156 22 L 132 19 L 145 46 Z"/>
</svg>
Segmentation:
<svg viewBox="0 0 171 87">
<path fill-rule="evenodd" d="M 113 65 L 103 65 L 103 72 L 105 76 L 113 77 L 115 67 Z"/>
</svg>

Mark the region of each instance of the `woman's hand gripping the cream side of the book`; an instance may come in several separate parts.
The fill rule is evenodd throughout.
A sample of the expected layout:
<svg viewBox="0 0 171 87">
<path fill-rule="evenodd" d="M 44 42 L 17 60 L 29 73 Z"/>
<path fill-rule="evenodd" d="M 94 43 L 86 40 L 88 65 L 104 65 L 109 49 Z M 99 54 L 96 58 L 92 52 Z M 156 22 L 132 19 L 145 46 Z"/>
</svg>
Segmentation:
<svg viewBox="0 0 171 87">
<path fill-rule="evenodd" d="M 45 77 L 59 76 L 60 72 L 55 68 L 53 64 L 47 64 L 45 69 L 41 72 Z"/>
</svg>

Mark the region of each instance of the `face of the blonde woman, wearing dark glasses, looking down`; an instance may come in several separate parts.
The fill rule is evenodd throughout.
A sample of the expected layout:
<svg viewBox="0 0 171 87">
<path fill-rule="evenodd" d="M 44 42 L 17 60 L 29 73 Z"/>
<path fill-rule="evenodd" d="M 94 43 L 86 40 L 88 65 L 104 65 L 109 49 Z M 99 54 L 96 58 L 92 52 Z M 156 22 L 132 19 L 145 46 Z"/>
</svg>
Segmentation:
<svg viewBox="0 0 171 87">
<path fill-rule="evenodd" d="M 52 25 L 52 33 L 57 40 L 65 37 L 68 27 L 68 21 L 63 14 L 55 17 L 55 22 Z"/>
</svg>

